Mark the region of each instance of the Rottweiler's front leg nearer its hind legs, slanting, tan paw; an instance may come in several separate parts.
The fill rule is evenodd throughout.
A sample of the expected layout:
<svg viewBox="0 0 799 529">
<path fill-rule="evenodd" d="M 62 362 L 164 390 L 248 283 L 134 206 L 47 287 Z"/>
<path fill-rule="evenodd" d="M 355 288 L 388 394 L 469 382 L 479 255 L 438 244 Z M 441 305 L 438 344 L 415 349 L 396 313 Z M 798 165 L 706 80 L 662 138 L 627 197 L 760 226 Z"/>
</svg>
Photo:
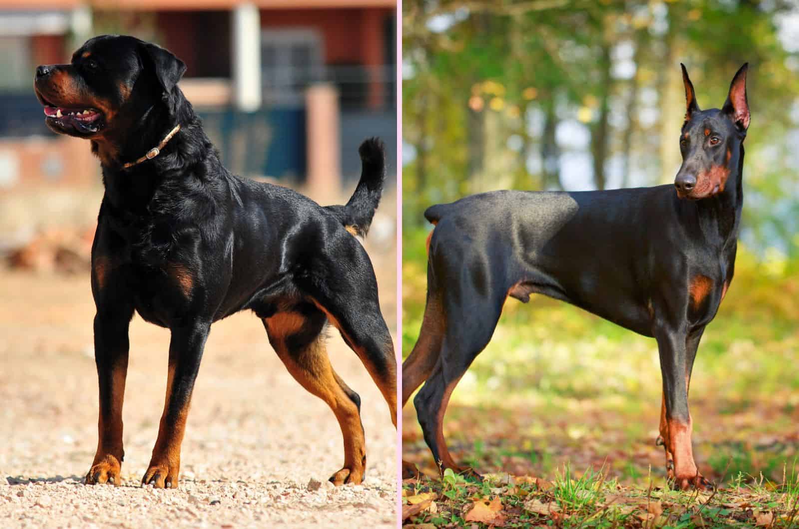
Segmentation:
<svg viewBox="0 0 799 529">
<path fill-rule="evenodd" d="M 200 369 L 205 340 L 211 324 L 193 322 L 172 329 L 169 342 L 169 376 L 166 380 L 166 399 L 153 457 L 142 484 L 156 488 L 177 488 L 181 468 L 181 443 L 189 416 L 194 380 Z"/>
</svg>

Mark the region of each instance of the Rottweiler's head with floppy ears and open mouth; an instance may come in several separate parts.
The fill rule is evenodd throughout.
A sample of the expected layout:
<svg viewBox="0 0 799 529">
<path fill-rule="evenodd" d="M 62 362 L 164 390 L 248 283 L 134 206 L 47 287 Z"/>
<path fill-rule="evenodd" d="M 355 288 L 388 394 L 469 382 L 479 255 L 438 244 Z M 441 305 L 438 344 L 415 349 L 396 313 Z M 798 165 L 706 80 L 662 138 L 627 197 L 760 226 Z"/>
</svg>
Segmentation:
<svg viewBox="0 0 799 529">
<path fill-rule="evenodd" d="M 118 141 L 154 105 L 169 101 L 185 70 L 159 46 L 102 35 L 86 41 L 69 64 L 38 66 L 34 89 L 54 132 Z"/>
</svg>

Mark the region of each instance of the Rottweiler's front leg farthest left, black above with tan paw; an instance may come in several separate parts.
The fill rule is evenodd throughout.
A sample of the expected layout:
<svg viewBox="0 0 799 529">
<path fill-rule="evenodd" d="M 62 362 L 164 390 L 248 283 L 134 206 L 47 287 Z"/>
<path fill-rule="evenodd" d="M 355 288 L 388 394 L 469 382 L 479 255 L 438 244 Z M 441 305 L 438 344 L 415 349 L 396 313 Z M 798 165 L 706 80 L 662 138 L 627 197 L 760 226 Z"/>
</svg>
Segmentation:
<svg viewBox="0 0 799 529">
<path fill-rule="evenodd" d="M 94 361 L 100 385 L 98 441 L 86 484 L 120 484 L 122 457 L 122 400 L 128 372 L 128 326 L 133 308 L 101 308 L 94 316 Z"/>
</svg>

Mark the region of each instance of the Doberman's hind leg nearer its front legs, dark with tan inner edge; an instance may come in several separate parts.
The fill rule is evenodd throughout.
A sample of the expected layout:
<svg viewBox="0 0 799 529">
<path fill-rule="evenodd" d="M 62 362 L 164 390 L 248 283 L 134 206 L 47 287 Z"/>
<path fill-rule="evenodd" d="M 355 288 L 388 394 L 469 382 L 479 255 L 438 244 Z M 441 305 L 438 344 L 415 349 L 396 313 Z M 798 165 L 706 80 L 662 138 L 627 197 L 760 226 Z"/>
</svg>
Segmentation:
<svg viewBox="0 0 799 529">
<path fill-rule="evenodd" d="M 469 306 L 447 305 L 446 334 L 439 360 L 413 402 L 424 440 L 440 470 L 451 468 L 457 473 L 468 472 L 479 477 L 471 468 L 455 463 L 444 439 L 443 420 L 455 386 L 494 334 L 503 299 L 481 299 L 478 292 L 459 296 L 459 299 L 470 300 Z"/>
</svg>

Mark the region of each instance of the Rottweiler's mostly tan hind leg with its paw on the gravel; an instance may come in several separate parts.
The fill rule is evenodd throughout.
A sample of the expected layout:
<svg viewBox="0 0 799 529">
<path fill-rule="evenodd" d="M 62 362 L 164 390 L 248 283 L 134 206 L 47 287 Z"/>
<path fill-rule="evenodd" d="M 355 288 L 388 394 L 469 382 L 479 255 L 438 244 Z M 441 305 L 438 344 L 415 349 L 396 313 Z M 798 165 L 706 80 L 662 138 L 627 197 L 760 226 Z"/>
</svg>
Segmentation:
<svg viewBox="0 0 799 529">
<path fill-rule="evenodd" d="M 303 388 L 332 409 L 344 436 L 344 467 L 333 474 L 335 485 L 361 483 L 366 470 L 366 442 L 360 421 L 360 397 L 333 371 L 324 344 L 324 312 L 312 305 L 278 312 L 264 319 L 269 342 L 288 372 Z"/>
</svg>

